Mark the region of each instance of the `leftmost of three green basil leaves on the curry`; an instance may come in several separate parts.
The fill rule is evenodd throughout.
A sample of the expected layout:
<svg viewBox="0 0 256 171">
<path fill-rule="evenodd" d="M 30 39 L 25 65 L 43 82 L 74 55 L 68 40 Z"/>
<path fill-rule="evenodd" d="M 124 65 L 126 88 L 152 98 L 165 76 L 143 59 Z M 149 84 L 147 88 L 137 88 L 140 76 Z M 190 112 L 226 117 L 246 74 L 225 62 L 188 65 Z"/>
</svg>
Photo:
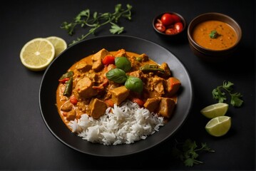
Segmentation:
<svg viewBox="0 0 256 171">
<path fill-rule="evenodd" d="M 127 80 L 125 71 L 119 68 L 114 68 L 111 69 L 111 71 L 108 71 L 108 73 L 106 73 L 106 77 L 108 78 L 108 80 L 115 83 L 125 83 Z"/>
</svg>

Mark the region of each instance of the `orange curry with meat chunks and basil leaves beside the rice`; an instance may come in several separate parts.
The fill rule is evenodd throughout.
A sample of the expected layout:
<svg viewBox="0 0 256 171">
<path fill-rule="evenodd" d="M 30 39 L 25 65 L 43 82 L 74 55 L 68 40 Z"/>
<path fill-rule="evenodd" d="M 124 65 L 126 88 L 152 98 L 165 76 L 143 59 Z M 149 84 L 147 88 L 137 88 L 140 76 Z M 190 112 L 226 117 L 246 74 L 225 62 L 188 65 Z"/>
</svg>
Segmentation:
<svg viewBox="0 0 256 171">
<path fill-rule="evenodd" d="M 167 63 L 159 65 L 145 53 L 105 48 L 74 63 L 58 81 L 56 106 L 66 125 L 84 113 L 101 118 L 108 107 L 125 100 L 168 121 L 181 86 Z"/>
</svg>

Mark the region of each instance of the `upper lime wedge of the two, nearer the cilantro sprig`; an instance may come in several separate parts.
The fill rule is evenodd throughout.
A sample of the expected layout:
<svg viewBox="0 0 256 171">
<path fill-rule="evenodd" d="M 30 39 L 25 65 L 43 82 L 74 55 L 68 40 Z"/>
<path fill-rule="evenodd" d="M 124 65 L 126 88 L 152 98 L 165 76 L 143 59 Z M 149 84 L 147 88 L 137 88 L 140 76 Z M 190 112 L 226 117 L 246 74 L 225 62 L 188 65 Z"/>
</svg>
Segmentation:
<svg viewBox="0 0 256 171">
<path fill-rule="evenodd" d="M 207 107 L 200 110 L 200 113 L 205 115 L 207 118 L 215 118 L 217 116 L 222 116 L 227 113 L 228 104 L 227 103 L 215 103 L 213 105 L 208 105 Z"/>
</svg>

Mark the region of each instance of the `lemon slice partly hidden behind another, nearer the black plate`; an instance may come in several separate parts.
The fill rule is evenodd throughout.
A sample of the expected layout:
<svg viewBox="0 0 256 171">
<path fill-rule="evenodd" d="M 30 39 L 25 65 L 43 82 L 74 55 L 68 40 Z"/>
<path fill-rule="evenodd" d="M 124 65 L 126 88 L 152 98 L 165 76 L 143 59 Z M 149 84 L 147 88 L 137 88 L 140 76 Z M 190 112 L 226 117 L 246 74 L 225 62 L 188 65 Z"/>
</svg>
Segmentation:
<svg viewBox="0 0 256 171">
<path fill-rule="evenodd" d="M 46 38 L 48 41 L 51 41 L 53 43 L 53 46 L 55 48 L 55 56 L 58 56 L 62 51 L 64 51 L 68 46 L 66 41 L 64 41 L 63 38 L 57 37 L 57 36 L 50 36 Z"/>
</svg>

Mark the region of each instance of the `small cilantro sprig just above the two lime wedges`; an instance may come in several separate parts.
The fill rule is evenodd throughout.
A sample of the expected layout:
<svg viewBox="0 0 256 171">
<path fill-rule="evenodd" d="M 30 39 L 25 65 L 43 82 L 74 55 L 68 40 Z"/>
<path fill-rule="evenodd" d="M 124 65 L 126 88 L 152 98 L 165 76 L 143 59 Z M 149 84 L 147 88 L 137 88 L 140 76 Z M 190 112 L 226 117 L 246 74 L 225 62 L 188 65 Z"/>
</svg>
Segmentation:
<svg viewBox="0 0 256 171">
<path fill-rule="evenodd" d="M 232 93 L 232 86 L 234 86 L 234 83 L 231 83 L 230 81 L 223 81 L 222 86 L 217 86 L 217 88 L 213 89 L 213 98 L 215 100 L 218 100 L 219 103 L 224 102 L 227 100 L 227 95 L 230 95 L 230 104 L 234 107 L 240 107 L 243 103 L 242 94 L 241 93 Z"/>
</svg>

